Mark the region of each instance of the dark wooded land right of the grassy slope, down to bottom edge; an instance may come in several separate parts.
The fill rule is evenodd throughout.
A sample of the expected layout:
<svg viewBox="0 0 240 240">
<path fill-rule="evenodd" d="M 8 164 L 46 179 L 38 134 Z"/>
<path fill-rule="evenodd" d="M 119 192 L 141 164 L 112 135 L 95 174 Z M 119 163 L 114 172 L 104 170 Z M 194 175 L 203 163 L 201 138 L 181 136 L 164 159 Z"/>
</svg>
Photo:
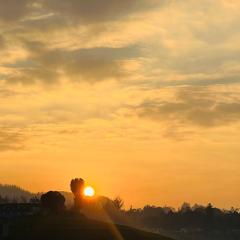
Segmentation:
<svg viewBox="0 0 240 240">
<path fill-rule="evenodd" d="M 207 206 L 183 204 L 178 210 L 145 206 L 122 211 L 138 227 L 175 239 L 240 240 L 239 209 L 222 210 Z"/>
</svg>

